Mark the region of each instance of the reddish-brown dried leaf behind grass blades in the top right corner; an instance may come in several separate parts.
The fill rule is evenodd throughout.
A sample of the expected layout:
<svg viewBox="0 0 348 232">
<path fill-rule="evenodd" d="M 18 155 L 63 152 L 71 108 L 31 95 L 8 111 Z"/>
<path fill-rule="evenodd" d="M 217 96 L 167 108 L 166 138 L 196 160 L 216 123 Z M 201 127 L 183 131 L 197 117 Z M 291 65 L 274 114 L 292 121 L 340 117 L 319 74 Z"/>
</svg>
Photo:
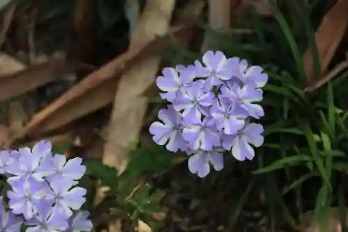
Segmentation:
<svg viewBox="0 0 348 232">
<path fill-rule="evenodd" d="M 326 13 L 322 24 L 320 24 L 319 29 L 315 32 L 315 42 L 319 53 L 322 75 L 327 71 L 338 45 L 340 45 L 343 36 L 345 36 L 348 24 L 347 11 L 348 1 L 338 1 Z M 310 49 L 308 49 L 303 56 L 303 63 L 309 84 L 313 84 L 314 82 L 313 62 L 313 55 Z"/>
</svg>

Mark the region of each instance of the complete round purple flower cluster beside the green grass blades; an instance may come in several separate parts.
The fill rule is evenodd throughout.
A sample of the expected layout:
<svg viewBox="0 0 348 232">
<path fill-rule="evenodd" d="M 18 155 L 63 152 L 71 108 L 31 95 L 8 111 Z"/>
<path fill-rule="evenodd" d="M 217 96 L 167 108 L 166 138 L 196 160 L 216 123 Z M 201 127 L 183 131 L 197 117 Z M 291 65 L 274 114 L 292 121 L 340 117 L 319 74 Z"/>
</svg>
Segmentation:
<svg viewBox="0 0 348 232">
<path fill-rule="evenodd" d="M 223 52 L 206 52 L 203 62 L 164 68 L 157 86 L 161 98 L 170 102 L 159 111 L 161 122 L 152 123 L 150 133 L 157 144 L 172 152 L 185 151 L 189 170 L 204 177 L 210 166 L 223 169 L 223 152 L 239 161 L 252 160 L 254 149 L 264 142 L 263 127 L 251 123 L 264 111 L 258 102 L 268 75 L 260 66 L 248 66 Z"/>
</svg>

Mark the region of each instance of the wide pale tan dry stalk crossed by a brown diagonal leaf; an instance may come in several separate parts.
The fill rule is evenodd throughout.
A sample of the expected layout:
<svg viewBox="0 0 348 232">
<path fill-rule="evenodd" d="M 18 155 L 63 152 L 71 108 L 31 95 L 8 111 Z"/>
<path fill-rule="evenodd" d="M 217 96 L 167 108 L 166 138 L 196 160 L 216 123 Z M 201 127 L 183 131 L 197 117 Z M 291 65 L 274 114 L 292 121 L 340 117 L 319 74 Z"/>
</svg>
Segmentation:
<svg viewBox="0 0 348 232">
<path fill-rule="evenodd" d="M 145 45 L 156 36 L 168 33 L 174 5 L 174 0 L 148 1 L 143 15 L 139 18 L 130 47 Z M 161 59 L 157 56 L 149 57 L 135 64 L 118 83 L 102 161 L 116 167 L 120 172 L 124 171 L 127 165 L 129 144 L 139 139 L 143 117 L 148 107 L 147 98 L 141 94 L 154 81 L 160 62 Z"/>
</svg>

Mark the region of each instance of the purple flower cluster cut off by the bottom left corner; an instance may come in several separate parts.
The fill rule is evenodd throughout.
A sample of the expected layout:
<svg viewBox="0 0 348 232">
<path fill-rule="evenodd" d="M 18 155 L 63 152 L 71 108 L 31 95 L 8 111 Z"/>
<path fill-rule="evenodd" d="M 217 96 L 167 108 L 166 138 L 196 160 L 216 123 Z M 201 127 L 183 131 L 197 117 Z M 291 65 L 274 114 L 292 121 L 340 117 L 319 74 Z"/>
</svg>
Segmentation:
<svg viewBox="0 0 348 232">
<path fill-rule="evenodd" d="M 89 213 L 79 210 L 86 201 L 86 189 L 76 186 L 86 172 L 81 162 L 54 155 L 48 141 L 32 150 L 1 150 L 0 174 L 11 190 L 0 199 L 0 231 L 91 231 Z"/>
</svg>

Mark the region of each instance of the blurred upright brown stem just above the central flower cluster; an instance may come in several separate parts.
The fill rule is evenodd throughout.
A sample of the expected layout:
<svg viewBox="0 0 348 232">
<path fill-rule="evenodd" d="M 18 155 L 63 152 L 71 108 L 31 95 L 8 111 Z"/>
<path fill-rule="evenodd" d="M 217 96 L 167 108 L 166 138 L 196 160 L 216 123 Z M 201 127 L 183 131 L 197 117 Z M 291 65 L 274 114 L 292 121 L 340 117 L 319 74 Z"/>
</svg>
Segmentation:
<svg viewBox="0 0 348 232">
<path fill-rule="evenodd" d="M 230 0 L 209 0 L 208 20 L 209 26 L 216 31 L 228 31 L 230 29 Z M 214 40 L 205 33 L 201 52 L 205 52 L 212 48 Z"/>
</svg>

